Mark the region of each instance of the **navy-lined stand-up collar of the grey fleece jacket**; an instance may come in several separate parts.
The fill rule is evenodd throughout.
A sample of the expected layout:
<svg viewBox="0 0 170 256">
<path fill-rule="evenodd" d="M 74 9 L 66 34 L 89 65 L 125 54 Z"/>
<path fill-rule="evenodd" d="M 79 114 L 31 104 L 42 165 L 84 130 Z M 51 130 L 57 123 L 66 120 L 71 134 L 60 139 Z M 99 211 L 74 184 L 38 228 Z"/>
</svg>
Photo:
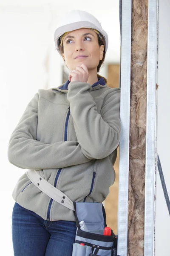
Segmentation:
<svg viewBox="0 0 170 256">
<path fill-rule="evenodd" d="M 58 90 L 63 93 L 68 92 L 68 84 L 70 83 L 69 80 L 67 80 L 64 84 L 60 85 L 59 87 L 51 88 L 51 90 Z M 91 87 L 91 90 L 97 90 L 103 87 L 106 87 L 107 84 L 105 83 L 105 79 L 103 77 L 98 77 L 98 82 L 94 83 Z"/>
</svg>

